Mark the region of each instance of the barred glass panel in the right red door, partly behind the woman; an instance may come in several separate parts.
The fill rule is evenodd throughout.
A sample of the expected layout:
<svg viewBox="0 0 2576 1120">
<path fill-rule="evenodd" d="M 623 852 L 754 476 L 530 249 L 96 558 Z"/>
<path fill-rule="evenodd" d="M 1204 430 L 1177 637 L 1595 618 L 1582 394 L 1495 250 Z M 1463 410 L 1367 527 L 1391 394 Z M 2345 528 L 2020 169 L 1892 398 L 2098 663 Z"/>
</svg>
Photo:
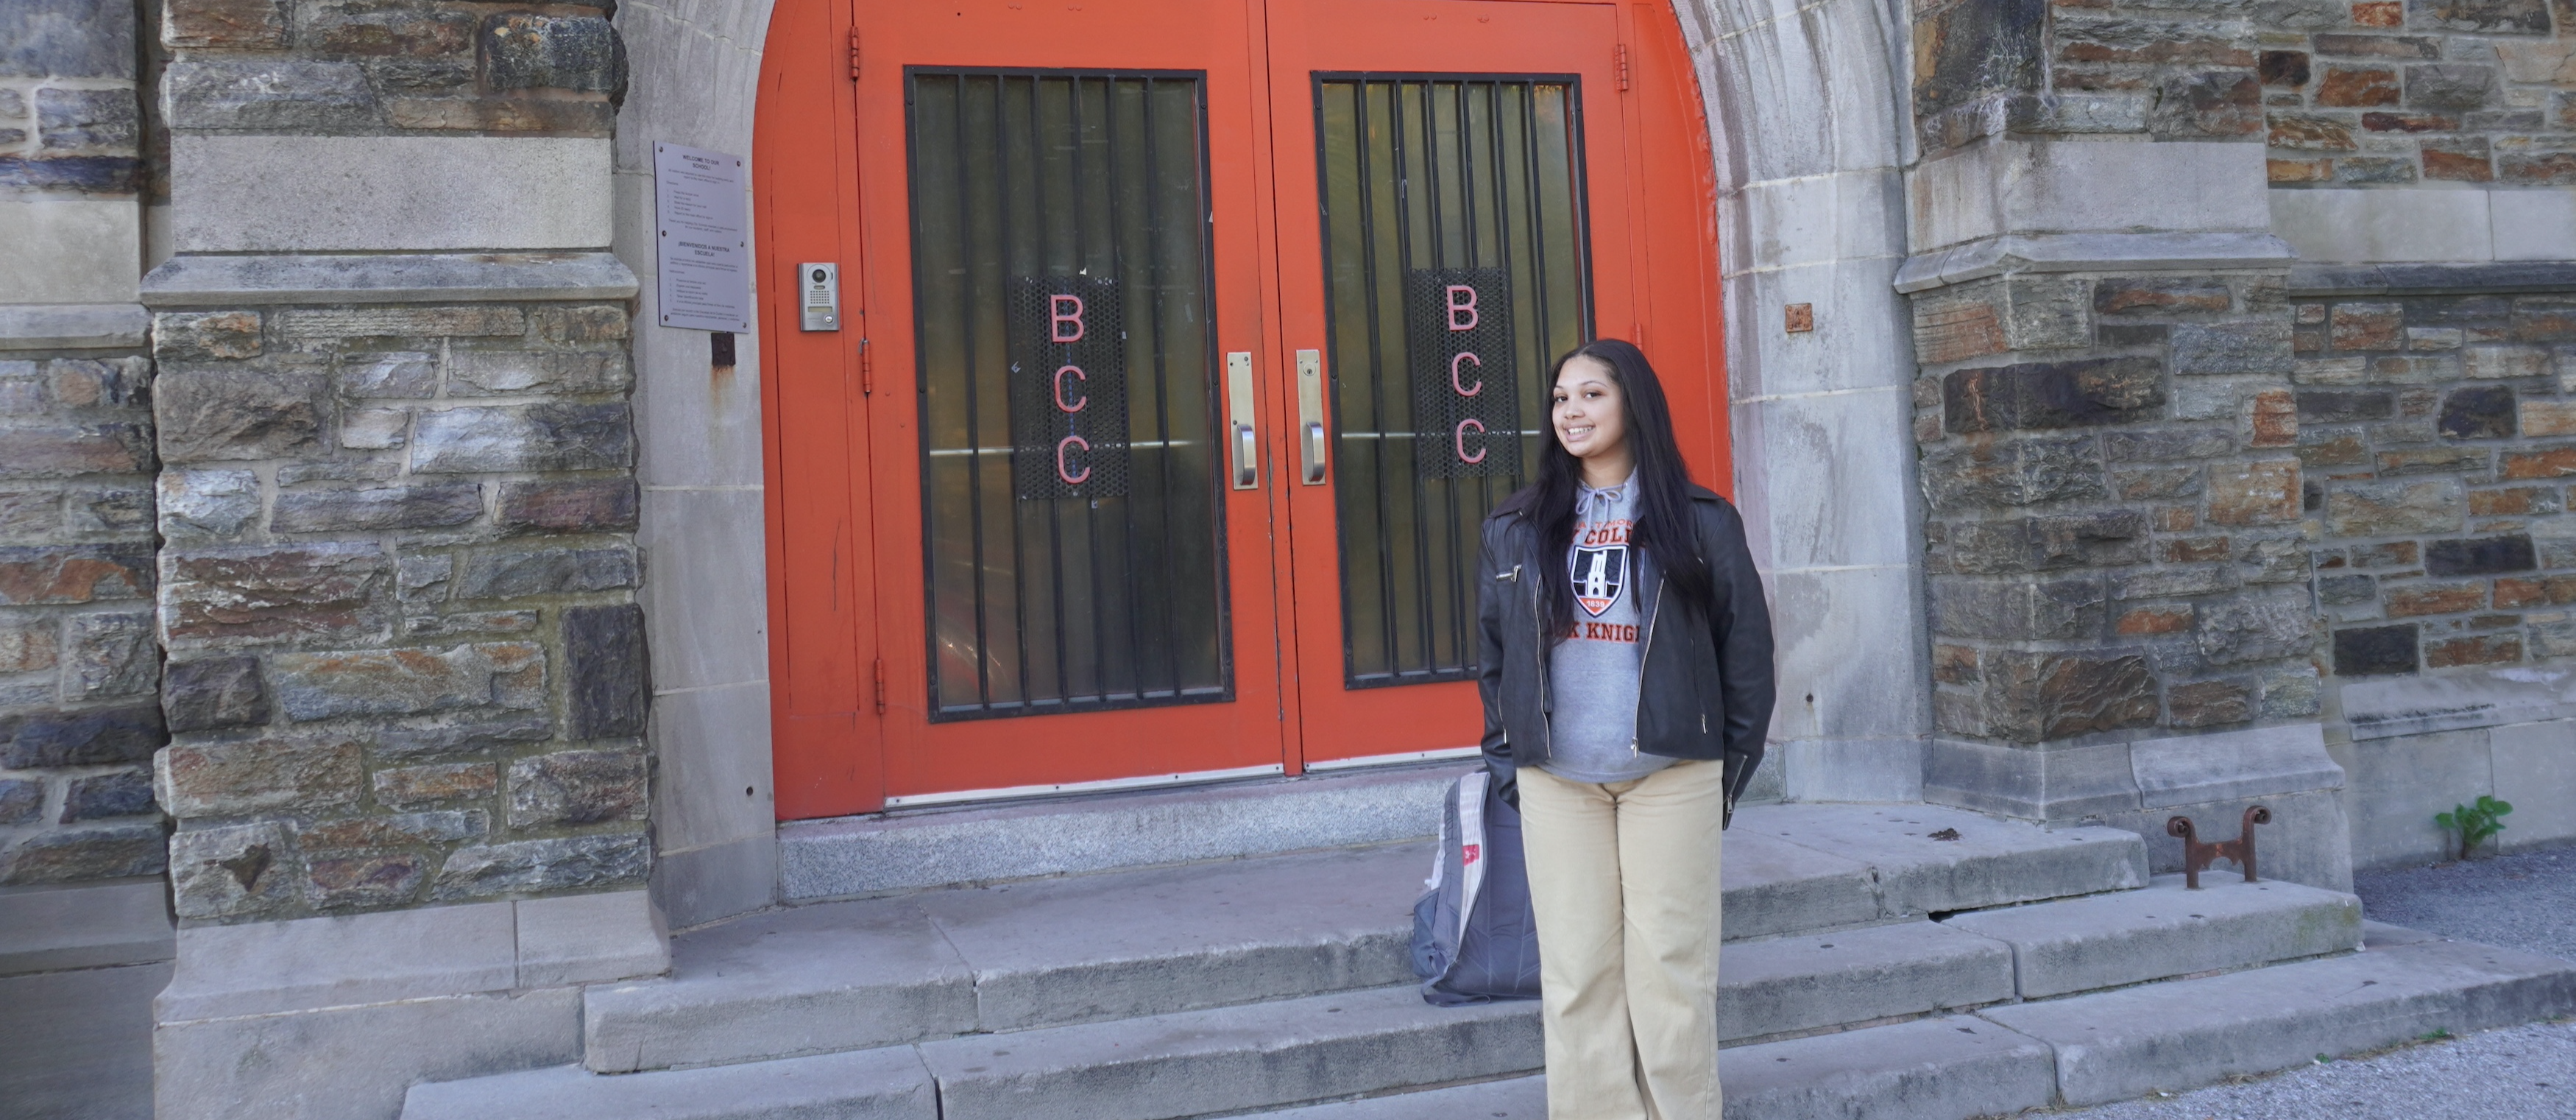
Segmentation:
<svg viewBox="0 0 2576 1120">
<path fill-rule="evenodd" d="M 1476 525 L 1592 337 L 1571 77 L 1316 75 L 1345 685 L 1476 675 Z"/>
</svg>

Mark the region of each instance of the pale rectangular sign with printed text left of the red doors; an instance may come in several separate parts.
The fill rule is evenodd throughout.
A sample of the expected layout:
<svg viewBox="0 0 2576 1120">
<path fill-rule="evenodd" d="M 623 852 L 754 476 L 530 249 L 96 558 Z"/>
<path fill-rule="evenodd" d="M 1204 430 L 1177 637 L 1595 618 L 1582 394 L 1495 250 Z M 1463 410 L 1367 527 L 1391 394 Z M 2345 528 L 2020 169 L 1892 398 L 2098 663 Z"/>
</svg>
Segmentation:
<svg viewBox="0 0 2576 1120">
<path fill-rule="evenodd" d="M 654 265 L 662 324 L 752 330 L 752 239 L 742 216 L 742 157 L 652 147 Z"/>
</svg>

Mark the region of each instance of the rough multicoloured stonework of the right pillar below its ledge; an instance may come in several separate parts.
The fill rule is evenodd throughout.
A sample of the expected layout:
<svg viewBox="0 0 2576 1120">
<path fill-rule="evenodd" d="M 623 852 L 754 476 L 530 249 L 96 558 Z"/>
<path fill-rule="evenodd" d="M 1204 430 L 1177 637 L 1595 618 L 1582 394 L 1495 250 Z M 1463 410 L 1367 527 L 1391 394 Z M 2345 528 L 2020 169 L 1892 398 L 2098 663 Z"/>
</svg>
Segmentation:
<svg viewBox="0 0 2576 1120">
<path fill-rule="evenodd" d="M 2280 273 L 1999 275 L 1914 322 L 1935 734 L 2316 716 Z"/>
</svg>

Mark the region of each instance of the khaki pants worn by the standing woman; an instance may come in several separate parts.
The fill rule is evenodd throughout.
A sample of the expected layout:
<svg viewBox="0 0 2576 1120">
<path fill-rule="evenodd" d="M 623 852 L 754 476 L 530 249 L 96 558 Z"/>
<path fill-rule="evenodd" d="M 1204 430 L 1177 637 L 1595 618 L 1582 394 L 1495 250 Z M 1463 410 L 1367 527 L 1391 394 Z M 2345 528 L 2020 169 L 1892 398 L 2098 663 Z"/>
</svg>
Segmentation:
<svg viewBox="0 0 2576 1120">
<path fill-rule="evenodd" d="M 1548 1120 L 1721 1120 L 1723 770 L 1595 785 L 1520 767 Z"/>
</svg>

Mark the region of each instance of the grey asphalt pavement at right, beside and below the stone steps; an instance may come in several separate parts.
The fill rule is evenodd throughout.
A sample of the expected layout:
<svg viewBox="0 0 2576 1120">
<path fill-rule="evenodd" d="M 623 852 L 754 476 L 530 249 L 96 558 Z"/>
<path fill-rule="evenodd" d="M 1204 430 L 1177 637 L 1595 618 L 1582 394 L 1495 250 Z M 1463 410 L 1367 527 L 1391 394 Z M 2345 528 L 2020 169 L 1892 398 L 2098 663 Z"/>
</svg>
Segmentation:
<svg viewBox="0 0 2576 1120">
<path fill-rule="evenodd" d="M 2362 914 L 2576 960 L 2576 850 L 2354 875 Z M 2576 1120 L 2576 1022 L 2535 1022 L 2063 1120 Z"/>
</svg>

